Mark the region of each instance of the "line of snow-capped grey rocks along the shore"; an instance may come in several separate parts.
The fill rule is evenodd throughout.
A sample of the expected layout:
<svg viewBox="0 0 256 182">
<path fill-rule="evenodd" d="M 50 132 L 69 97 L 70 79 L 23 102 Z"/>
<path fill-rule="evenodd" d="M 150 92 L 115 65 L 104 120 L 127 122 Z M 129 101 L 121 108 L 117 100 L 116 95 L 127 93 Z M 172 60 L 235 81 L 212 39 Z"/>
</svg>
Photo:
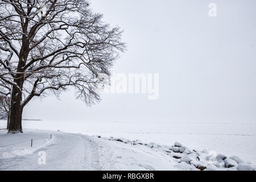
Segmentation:
<svg viewBox="0 0 256 182">
<path fill-rule="evenodd" d="M 98 136 L 98 138 L 101 138 Z M 245 163 L 238 156 L 230 156 L 229 158 L 225 155 L 218 154 L 215 152 L 208 152 L 207 150 L 191 150 L 188 147 L 183 146 L 179 142 L 175 142 L 174 146 L 160 145 L 154 142 L 143 143 L 138 140 L 127 140 L 121 138 L 103 138 L 107 140 L 114 140 L 117 142 L 133 144 L 133 145 L 143 145 L 152 148 L 156 151 L 163 151 L 167 155 L 172 156 L 174 160 L 178 163 L 176 167 L 190 170 L 208 170 L 208 171 L 218 171 L 218 170 L 238 170 L 238 171 L 255 171 L 255 166 L 250 163 Z"/>
</svg>

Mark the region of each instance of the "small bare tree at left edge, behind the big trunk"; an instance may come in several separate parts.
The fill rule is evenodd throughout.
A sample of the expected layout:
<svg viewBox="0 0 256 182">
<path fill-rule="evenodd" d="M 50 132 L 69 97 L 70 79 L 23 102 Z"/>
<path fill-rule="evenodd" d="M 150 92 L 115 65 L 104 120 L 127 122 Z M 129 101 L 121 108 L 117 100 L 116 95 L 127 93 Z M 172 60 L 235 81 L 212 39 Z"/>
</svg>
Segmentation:
<svg viewBox="0 0 256 182">
<path fill-rule="evenodd" d="M 0 119 L 7 119 L 7 129 L 10 121 L 11 98 L 0 94 Z"/>
</svg>

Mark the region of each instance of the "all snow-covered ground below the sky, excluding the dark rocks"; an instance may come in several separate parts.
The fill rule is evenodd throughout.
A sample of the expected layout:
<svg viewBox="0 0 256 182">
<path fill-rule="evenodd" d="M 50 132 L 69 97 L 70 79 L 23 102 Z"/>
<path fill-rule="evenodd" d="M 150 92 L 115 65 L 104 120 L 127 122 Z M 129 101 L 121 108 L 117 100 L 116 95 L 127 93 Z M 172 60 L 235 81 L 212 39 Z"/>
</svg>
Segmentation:
<svg viewBox="0 0 256 182">
<path fill-rule="evenodd" d="M 0 121 L 0 127 L 4 126 L 5 121 Z M 55 131 L 24 130 L 24 134 L 18 135 L 6 135 L 6 131 L 1 131 L 0 169 L 197 169 L 196 165 L 208 166 L 205 158 L 209 154 L 219 153 L 238 156 L 246 164 L 256 164 L 253 123 L 23 121 L 23 127 Z M 49 139 L 51 134 L 53 138 Z M 88 135 L 101 135 L 101 138 Z M 31 138 L 39 139 L 33 142 L 32 148 Z M 113 141 L 115 139 L 123 142 Z M 24 140 L 28 142 L 1 149 L 1 146 Z M 188 147 L 188 154 L 174 152 L 177 148 L 172 145 L 176 141 Z M 46 152 L 46 165 L 38 164 L 39 151 Z M 187 155 L 193 159 L 193 165 L 179 163 L 187 161 Z M 200 163 L 197 156 L 201 158 Z M 220 166 L 224 166 L 223 161 Z"/>
</svg>

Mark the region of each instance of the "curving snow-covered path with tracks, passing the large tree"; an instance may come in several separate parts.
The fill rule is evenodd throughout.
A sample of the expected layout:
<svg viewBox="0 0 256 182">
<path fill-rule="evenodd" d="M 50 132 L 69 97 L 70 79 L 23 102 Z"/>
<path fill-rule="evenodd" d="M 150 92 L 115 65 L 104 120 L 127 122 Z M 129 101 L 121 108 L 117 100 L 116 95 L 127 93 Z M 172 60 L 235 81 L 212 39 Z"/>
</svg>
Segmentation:
<svg viewBox="0 0 256 182">
<path fill-rule="evenodd" d="M 49 133 L 51 134 L 51 133 Z M 31 155 L 0 159 L 0 170 L 97 170 L 98 153 L 88 137 L 53 133 L 53 142 Z M 39 165 L 39 151 L 46 152 L 46 165 Z"/>
</svg>

